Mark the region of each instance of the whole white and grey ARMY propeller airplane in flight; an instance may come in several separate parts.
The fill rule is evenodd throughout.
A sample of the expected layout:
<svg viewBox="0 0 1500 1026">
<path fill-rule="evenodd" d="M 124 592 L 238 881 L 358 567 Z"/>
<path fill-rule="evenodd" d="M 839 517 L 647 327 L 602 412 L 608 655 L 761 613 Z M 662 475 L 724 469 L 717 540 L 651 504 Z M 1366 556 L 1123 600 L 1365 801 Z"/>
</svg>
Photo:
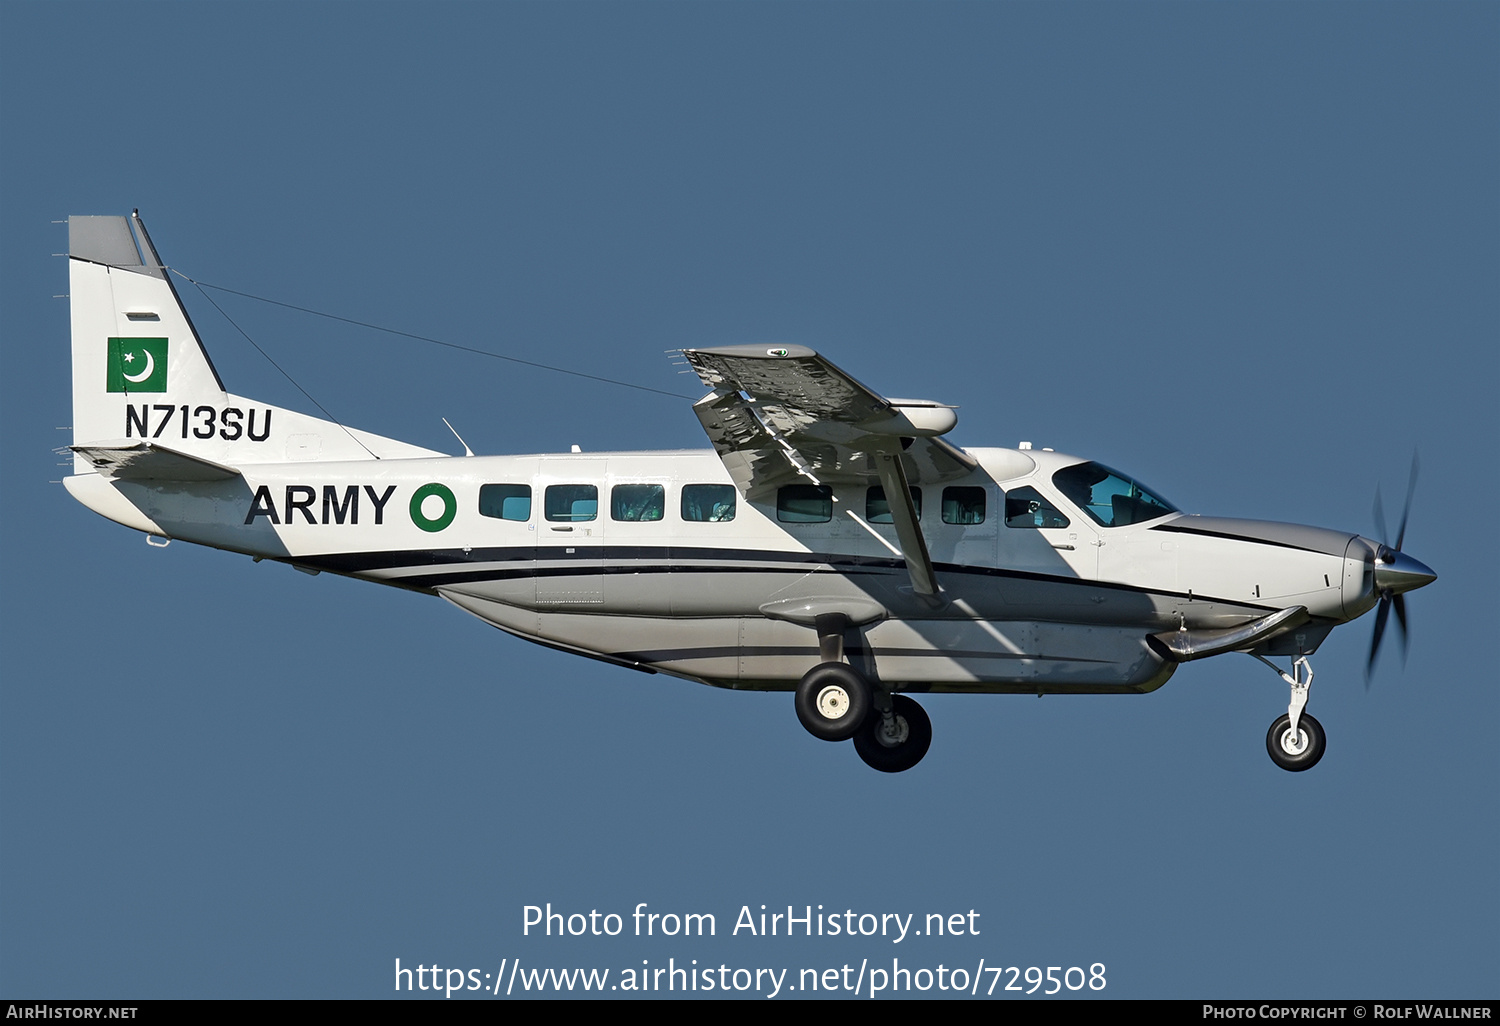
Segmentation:
<svg viewBox="0 0 1500 1026">
<path fill-rule="evenodd" d="M 1394 546 L 1190 516 L 1095 460 L 960 448 L 952 406 L 798 345 L 681 351 L 711 450 L 450 456 L 231 394 L 140 212 L 68 232 L 64 484 L 90 510 L 615 666 L 792 692 L 813 736 L 879 771 L 928 750 L 912 694 L 1138 694 L 1227 652 L 1290 687 L 1266 748 L 1308 770 L 1308 657 L 1376 609 L 1372 666 L 1389 612 L 1404 639 L 1406 592 L 1436 580 L 1401 550 L 1414 464 Z"/>
</svg>

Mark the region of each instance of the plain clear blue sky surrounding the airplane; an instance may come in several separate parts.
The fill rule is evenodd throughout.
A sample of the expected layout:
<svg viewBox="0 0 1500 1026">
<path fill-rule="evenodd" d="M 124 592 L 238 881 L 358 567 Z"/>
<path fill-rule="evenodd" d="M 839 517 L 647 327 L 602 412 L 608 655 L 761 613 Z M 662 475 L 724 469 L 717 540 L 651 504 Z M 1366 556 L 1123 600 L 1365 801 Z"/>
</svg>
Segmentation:
<svg viewBox="0 0 1500 1026">
<path fill-rule="evenodd" d="M 0 993 L 390 993 L 393 962 L 1108 968 L 1106 996 L 1496 996 L 1500 9 L 0 8 Z M 794 342 L 952 438 L 1185 510 L 1372 534 L 1422 456 L 1402 669 L 933 696 L 915 771 L 432 598 L 140 536 L 56 482 L 63 225 L 140 207 L 204 282 L 693 393 Z M 702 447 L 688 402 L 234 296 L 345 423 L 454 452 Z M 228 386 L 309 410 L 200 294 Z M 1392 516 L 1392 519 L 1395 519 Z M 522 908 L 718 936 L 522 936 Z M 894 946 L 740 908 L 975 909 Z M 910 962 L 908 962 L 910 958 Z M 934 992 L 936 993 L 936 992 Z"/>
</svg>

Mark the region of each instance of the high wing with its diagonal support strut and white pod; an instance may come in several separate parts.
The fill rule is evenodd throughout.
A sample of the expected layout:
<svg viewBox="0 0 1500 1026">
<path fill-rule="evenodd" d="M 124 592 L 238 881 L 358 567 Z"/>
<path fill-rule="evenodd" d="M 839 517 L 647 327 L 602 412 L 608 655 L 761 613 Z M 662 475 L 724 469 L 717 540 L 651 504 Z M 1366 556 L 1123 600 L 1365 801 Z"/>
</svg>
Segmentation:
<svg viewBox="0 0 1500 1026">
<path fill-rule="evenodd" d="M 766 498 L 798 480 L 879 483 L 912 588 L 938 592 L 910 486 L 950 482 L 976 466 L 939 438 L 958 422 L 952 406 L 886 399 L 806 346 L 735 345 L 682 356 L 712 388 L 693 412 L 746 498 Z"/>
</svg>

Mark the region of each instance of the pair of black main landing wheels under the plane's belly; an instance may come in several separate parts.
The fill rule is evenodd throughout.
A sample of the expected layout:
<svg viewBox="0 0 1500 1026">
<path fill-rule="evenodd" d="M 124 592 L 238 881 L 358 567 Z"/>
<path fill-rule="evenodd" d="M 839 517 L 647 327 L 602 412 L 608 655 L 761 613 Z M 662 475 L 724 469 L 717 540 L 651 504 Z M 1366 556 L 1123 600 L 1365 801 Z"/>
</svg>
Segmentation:
<svg viewBox="0 0 1500 1026">
<path fill-rule="evenodd" d="M 910 770 L 927 754 L 933 724 L 912 699 L 873 688 L 848 663 L 825 662 L 796 686 L 796 718 L 824 741 L 854 738 L 866 765 L 882 772 Z"/>
</svg>

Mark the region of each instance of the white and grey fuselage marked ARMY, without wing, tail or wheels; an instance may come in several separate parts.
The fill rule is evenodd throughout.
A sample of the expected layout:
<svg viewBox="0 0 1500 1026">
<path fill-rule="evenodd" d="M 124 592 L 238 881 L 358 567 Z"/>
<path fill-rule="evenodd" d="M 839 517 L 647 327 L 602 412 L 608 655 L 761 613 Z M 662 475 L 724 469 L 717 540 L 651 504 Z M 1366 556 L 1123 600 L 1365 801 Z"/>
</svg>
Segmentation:
<svg viewBox="0 0 1500 1026">
<path fill-rule="evenodd" d="M 1287 525 L 1316 550 L 1222 530 L 1254 522 L 1196 530 L 1200 518 L 1170 514 L 1104 528 L 1052 483 L 1077 458 L 969 453 L 978 468 L 922 501 L 940 602 L 912 594 L 896 528 L 870 522 L 862 486 L 836 486 L 820 522 L 783 520 L 774 496 L 740 496 L 732 519 L 687 519 L 686 489 L 729 483 L 708 450 L 242 464 L 232 480 L 86 474 L 69 486 L 140 530 L 440 594 L 542 644 L 726 687 L 786 688 L 816 662 L 813 632 L 776 612 L 800 604 L 868 610 L 849 657 L 874 680 L 975 692 L 1152 690 L 1173 664 L 1144 644 L 1149 632 L 1300 604 L 1323 624 L 1310 628 L 1316 646 L 1370 606 L 1362 550 L 1344 552 L 1353 534 Z M 646 514 L 657 519 L 612 502 L 642 484 L 660 486 Z M 530 502 L 484 514 L 484 486 L 524 486 Z M 597 495 L 592 514 L 549 519 L 549 489 L 579 486 Z M 945 488 L 984 490 L 978 522 L 946 522 Z M 1005 494 L 1020 488 L 1068 525 L 1008 526 Z"/>
</svg>

